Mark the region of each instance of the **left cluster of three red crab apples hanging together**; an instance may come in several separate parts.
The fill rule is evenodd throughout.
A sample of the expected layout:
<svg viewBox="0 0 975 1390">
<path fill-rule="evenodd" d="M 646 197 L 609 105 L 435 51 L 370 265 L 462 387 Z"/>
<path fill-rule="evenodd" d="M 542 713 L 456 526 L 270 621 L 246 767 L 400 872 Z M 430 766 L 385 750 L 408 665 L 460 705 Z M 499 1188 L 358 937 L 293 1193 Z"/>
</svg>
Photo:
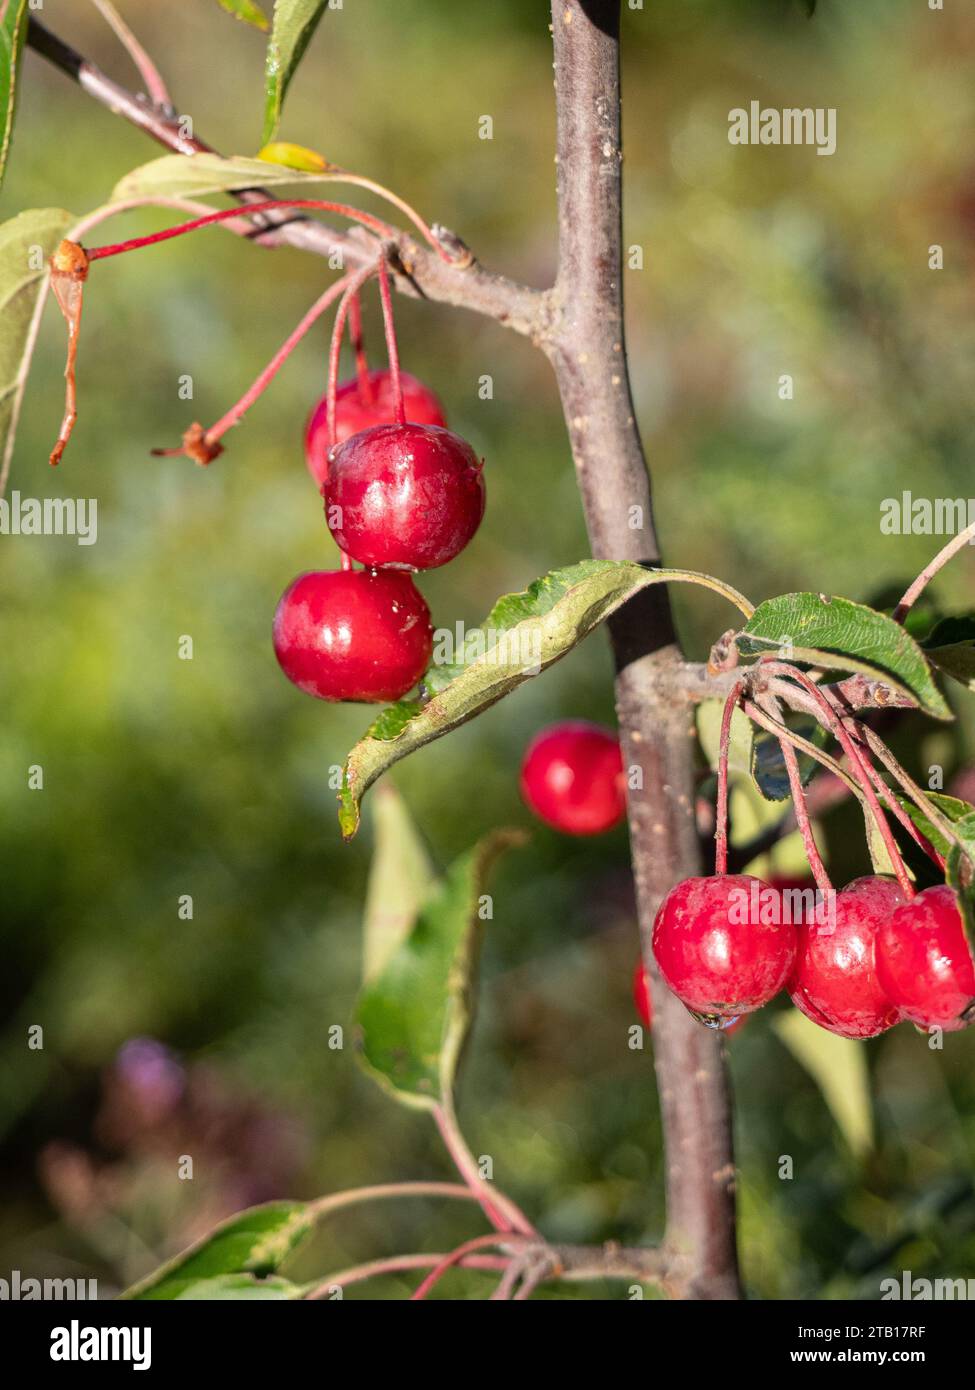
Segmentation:
<svg viewBox="0 0 975 1390">
<path fill-rule="evenodd" d="M 299 689 L 325 701 L 385 702 L 430 664 L 430 609 L 416 570 L 446 564 L 484 516 L 483 464 L 445 428 L 437 396 L 399 374 L 370 371 L 323 398 L 305 438 L 341 570 L 312 570 L 284 592 L 274 651 Z M 396 418 L 399 417 L 399 418 Z M 363 569 L 352 566 L 356 560 Z"/>
</svg>

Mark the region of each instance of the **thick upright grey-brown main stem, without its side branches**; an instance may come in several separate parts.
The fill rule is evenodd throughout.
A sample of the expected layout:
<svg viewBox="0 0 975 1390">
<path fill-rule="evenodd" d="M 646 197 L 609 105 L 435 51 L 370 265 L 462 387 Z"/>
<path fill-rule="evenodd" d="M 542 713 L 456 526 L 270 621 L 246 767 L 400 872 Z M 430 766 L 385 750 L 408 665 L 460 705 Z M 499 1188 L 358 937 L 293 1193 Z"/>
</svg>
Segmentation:
<svg viewBox="0 0 975 1390">
<path fill-rule="evenodd" d="M 623 335 L 619 0 L 552 0 L 558 114 L 559 271 L 548 352 L 562 395 L 593 553 L 659 564 L 647 463 Z M 662 986 L 650 945 L 673 884 L 701 872 L 693 720 L 669 598 L 651 585 L 609 621 L 654 1056 L 666 1143 L 666 1247 L 687 1297 L 740 1297 L 732 1109 L 719 1034 Z"/>
</svg>

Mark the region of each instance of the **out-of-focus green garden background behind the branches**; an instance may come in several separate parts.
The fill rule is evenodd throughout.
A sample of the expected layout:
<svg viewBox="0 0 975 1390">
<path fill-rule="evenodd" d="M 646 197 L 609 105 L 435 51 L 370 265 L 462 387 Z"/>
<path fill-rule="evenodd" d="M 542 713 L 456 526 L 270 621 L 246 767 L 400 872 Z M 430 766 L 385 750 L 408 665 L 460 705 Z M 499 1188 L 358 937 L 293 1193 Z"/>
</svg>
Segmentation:
<svg viewBox="0 0 975 1390">
<path fill-rule="evenodd" d="M 261 35 L 213 0 L 121 10 L 196 131 L 255 153 Z M 81 0 L 46 0 L 43 21 L 134 82 Z M 882 535 L 882 499 L 972 492 L 975 28 L 961 6 L 919 0 L 821 0 L 812 21 L 787 0 L 647 0 L 625 3 L 623 32 L 626 245 L 643 247 L 626 278 L 630 360 L 665 557 L 752 599 L 797 588 L 869 599 L 939 545 Z M 836 154 L 729 145 L 729 110 L 752 99 L 836 107 Z M 492 140 L 477 138 L 484 114 Z M 306 56 L 281 136 L 391 185 L 485 264 L 551 281 L 542 0 L 346 0 Z M 28 54 L 3 215 L 82 214 L 156 153 Z M 132 214 L 96 239 L 168 221 Z M 944 246 L 942 271 L 928 268 L 932 243 Z M 81 420 L 56 473 L 64 334 L 47 310 L 11 488 L 97 498 L 99 539 L 0 538 L 4 1276 L 97 1276 L 104 1295 L 249 1201 L 451 1176 L 424 1118 L 385 1099 L 350 1045 L 327 1045 L 357 990 L 371 834 L 367 815 L 359 840 L 339 842 L 328 770 L 369 712 L 300 695 L 270 644 L 280 592 L 335 562 L 302 459 L 324 332 L 210 470 L 147 456 L 223 414 L 327 274 L 218 231 L 100 267 Z M 555 388 L 499 327 L 396 309 L 405 366 L 487 459 L 477 541 L 420 581 L 435 623 L 476 623 L 498 594 L 586 553 Z M 378 357 L 373 304 L 367 329 Z M 777 395 L 784 373 L 791 402 Z M 492 400 L 478 399 L 484 374 Z M 946 610 L 969 606 L 974 573 L 965 553 L 939 578 Z M 676 602 L 702 656 L 729 610 L 701 591 Z M 184 634 L 192 662 L 178 659 Z M 396 769 L 441 863 L 492 826 L 529 824 L 520 753 L 562 716 L 612 723 L 602 634 Z M 950 778 L 974 731 L 960 708 L 957 737 L 917 719 L 896 738 L 915 767 L 937 762 Z M 26 787 L 36 763 L 43 792 Z M 837 877 L 865 872 L 848 808 L 826 833 Z M 652 1238 L 662 1154 L 650 1048 L 627 1047 L 625 831 L 574 842 L 535 826 L 494 894 L 460 1105 L 470 1144 L 549 1236 Z M 752 1295 L 876 1298 L 880 1277 L 904 1268 L 975 1276 L 972 1034 L 932 1052 L 904 1026 L 862 1047 L 876 1143 L 854 1156 L 772 1030 L 786 1005 L 729 1044 Z M 25 1045 L 36 1023 L 43 1051 Z M 177 1179 L 184 1152 L 192 1183 Z M 472 1227 L 456 1209 L 363 1209 L 316 1240 L 299 1275 L 448 1248 Z M 487 1287 L 472 1275 L 452 1290 Z"/>
</svg>

